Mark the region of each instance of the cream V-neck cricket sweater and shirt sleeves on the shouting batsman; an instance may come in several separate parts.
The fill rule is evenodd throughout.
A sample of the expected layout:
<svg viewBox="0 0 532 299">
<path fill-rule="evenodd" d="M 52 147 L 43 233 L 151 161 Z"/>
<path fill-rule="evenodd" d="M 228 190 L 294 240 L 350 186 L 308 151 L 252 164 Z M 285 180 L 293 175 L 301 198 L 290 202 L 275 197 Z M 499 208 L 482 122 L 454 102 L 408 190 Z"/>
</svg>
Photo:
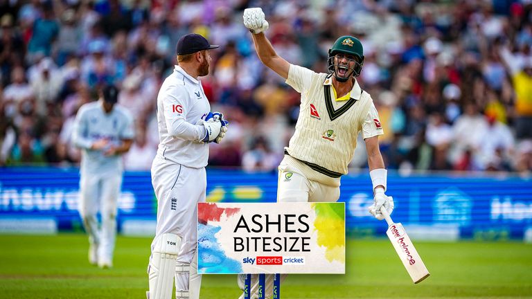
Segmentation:
<svg viewBox="0 0 532 299">
<path fill-rule="evenodd" d="M 331 177 L 347 174 L 358 134 L 364 138 L 383 134 L 373 100 L 358 82 L 343 105 L 335 102 L 332 79 L 326 73 L 291 64 L 286 83 L 301 93 L 301 105 L 296 131 L 285 149 L 314 170 Z"/>
</svg>

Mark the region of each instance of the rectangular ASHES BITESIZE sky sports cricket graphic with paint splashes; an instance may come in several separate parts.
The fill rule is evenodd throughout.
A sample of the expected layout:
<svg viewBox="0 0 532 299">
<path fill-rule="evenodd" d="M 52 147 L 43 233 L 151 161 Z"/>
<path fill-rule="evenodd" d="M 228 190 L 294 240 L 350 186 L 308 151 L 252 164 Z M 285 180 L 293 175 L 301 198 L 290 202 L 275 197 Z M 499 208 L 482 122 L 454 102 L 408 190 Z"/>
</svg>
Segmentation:
<svg viewBox="0 0 532 299">
<path fill-rule="evenodd" d="M 198 273 L 346 269 L 344 203 L 198 203 Z"/>
</svg>

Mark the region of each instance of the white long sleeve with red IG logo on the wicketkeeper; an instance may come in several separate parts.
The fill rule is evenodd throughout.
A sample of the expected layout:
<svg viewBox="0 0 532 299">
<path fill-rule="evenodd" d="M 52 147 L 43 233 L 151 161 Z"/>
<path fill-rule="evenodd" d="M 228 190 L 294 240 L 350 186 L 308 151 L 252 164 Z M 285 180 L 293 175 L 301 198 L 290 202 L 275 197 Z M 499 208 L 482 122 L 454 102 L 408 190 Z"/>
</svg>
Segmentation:
<svg viewBox="0 0 532 299">
<path fill-rule="evenodd" d="M 205 128 L 186 121 L 186 114 L 192 106 L 188 105 L 184 93 L 185 89 L 170 86 L 163 96 L 163 113 L 168 134 L 187 141 L 202 141 L 206 134 Z"/>
</svg>

